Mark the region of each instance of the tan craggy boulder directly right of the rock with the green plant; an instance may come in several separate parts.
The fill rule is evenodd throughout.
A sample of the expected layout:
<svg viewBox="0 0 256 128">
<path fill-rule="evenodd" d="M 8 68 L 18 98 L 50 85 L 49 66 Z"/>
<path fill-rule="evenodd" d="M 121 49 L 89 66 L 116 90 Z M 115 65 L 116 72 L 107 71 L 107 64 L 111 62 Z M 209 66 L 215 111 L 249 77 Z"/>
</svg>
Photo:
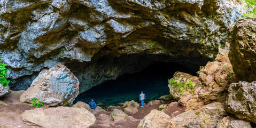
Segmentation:
<svg viewBox="0 0 256 128">
<path fill-rule="evenodd" d="M 220 100 L 223 91 L 228 90 L 230 83 L 236 82 L 236 75 L 228 58 L 228 50 L 219 49 L 215 61 L 208 62 L 197 72 L 201 82 L 206 86 L 200 91 L 199 97 L 205 103 Z"/>
</svg>

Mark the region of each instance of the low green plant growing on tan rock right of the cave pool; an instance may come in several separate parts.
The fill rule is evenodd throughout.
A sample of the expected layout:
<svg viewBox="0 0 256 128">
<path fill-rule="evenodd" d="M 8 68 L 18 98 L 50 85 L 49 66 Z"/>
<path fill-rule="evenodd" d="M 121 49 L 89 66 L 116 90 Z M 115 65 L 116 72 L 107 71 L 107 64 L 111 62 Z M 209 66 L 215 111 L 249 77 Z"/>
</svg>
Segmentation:
<svg viewBox="0 0 256 128">
<path fill-rule="evenodd" d="M 193 91 L 195 91 L 195 90 L 193 90 L 194 87 L 195 87 L 195 85 L 193 85 L 192 82 L 185 82 L 185 81 L 184 81 L 184 82 L 181 84 L 181 83 L 177 82 L 176 80 L 177 80 L 177 79 L 172 79 L 172 81 L 170 81 L 170 80 L 168 79 L 168 83 L 174 85 L 174 86 L 176 87 L 175 90 L 179 91 L 181 95 L 183 94 L 183 91 L 184 91 L 184 90 L 191 89 L 191 90 L 190 90 L 191 93 L 192 93 Z"/>
</svg>

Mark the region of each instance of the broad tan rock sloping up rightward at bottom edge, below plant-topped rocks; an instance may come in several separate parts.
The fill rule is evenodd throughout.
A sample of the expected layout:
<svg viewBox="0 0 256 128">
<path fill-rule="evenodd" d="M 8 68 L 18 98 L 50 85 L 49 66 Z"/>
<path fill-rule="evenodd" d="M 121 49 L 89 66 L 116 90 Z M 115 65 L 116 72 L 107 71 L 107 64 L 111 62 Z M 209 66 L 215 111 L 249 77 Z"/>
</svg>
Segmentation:
<svg viewBox="0 0 256 128">
<path fill-rule="evenodd" d="M 216 127 L 218 121 L 227 115 L 224 104 L 214 102 L 198 110 L 188 110 L 170 119 L 169 127 Z"/>
</svg>

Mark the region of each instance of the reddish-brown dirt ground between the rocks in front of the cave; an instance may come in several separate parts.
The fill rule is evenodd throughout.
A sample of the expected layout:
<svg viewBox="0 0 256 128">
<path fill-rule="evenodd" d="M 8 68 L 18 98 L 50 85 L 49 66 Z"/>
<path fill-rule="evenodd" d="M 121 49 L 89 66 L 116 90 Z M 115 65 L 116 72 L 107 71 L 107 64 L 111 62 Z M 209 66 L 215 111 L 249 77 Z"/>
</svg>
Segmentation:
<svg viewBox="0 0 256 128">
<path fill-rule="evenodd" d="M 25 110 L 35 109 L 36 107 L 30 107 L 29 103 L 21 103 L 19 102 L 19 97 L 15 97 L 15 92 L 5 95 L 0 98 L 0 101 L 3 101 L 7 104 L 7 106 L 0 103 L 0 128 L 30 128 L 33 126 L 29 126 L 25 124 L 20 115 Z M 148 115 L 152 109 L 158 109 L 161 103 L 154 103 L 153 105 L 144 105 L 144 108 L 138 107 L 138 112 L 135 114 L 128 114 L 130 117 L 126 119 L 126 121 L 114 122 L 112 118 L 108 117 L 111 111 L 99 111 L 95 114 L 97 121 L 91 128 L 112 128 L 112 127 L 120 127 L 120 128 L 133 128 L 137 127 L 141 119 Z M 171 103 L 171 106 L 168 106 L 164 112 L 170 117 L 174 117 L 183 113 L 185 110 L 184 107 L 179 106 L 179 103 Z M 43 106 L 43 108 L 48 108 L 47 106 Z M 119 109 L 123 110 L 123 107 Z"/>
</svg>

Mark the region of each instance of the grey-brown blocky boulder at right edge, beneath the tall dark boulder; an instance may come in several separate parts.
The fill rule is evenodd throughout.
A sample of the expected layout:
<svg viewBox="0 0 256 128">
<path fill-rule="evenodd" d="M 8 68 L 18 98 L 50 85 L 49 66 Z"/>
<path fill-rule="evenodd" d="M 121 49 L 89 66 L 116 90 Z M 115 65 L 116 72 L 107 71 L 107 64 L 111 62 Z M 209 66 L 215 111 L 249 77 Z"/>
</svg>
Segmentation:
<svg viewBox="0 0 256 128">
<path fill-rule="evenodd" d="M 256 123 L 256 82 L 232 83 L 228 89 L 227 111 L 240 119 Z"/>
</svg>

